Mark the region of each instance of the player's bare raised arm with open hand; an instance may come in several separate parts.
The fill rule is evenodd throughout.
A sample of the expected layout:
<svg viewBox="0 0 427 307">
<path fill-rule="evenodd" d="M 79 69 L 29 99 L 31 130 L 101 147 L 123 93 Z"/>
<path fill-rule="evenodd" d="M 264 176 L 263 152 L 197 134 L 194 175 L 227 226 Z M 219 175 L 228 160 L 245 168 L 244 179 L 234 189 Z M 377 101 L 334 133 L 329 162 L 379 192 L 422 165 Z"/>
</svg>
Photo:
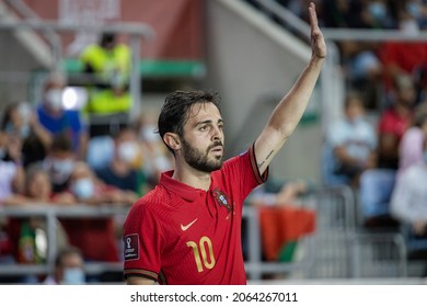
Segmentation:
<svg viewBox="0 0 427 307">
<path fill-rule="evenodd" d="M 267 125 L 255 141 L 256 162 L 261 173 L 264 173 L 301 120 L 326 57 L 326 44 L 319 29 L 313 2 L 310 3 L 309 13 L 312 56 L 291 90 L 275 107 Z"/>
</svg>

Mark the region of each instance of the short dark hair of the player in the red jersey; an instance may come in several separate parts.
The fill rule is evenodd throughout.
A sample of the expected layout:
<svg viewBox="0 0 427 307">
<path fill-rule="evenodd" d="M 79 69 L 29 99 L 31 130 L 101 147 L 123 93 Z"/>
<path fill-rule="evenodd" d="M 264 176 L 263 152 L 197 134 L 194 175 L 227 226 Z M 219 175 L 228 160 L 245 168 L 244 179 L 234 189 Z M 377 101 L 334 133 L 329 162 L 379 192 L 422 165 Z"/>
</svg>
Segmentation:
<svg viewBox="0 0 427 307">
<path fill-rule="evenodd" d="M 160 137 L 166 133 L 183 136 L 184 125 L 188 121 L 191 110 L 195 104 L 214 103 L 221 112 L 220 96 L 211 91 L 175 91 L 170 93 L 160 111 L 158 128 Z M 166 145 L 168 146 L 168 145 Z M 173 152 L 171 148 L 168 149 Z"/>
</svg>

